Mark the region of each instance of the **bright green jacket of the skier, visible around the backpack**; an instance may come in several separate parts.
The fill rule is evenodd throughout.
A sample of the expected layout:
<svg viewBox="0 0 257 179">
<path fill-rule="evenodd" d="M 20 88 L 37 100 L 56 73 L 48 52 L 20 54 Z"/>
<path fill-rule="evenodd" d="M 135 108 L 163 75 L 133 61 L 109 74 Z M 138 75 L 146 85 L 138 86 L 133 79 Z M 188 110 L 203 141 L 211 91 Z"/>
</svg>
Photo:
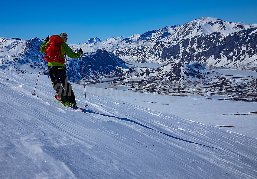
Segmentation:
<svg viewBox="0 0 257 179">
<path fill-rule="evenodd" d="M 62 41 L 63 41 L 63 37 Z M 48 41 L 49 42 L 49 41 Z M 41 45 L 40 47 L 40 51 L 42 53 L 46 52 L 46 48 L 47 48 L 47 41 L 44 41 L 44 43 Z M 64 42 L 64 41 L 63 41 Z M 72 51 L 72 49 L 69 47 L 69 45 L 67 45 L 66 43 L 62 43 L 62 47 L 61 47 L 61 55 L 65 55 L 67 54 L 70 58 L 80 58 L 81 53 L 75 53 Z M 65 57 L 62 56 L 64 59 Z M 65 63 L 59 63 L 59 62 L 48 62 L 48 66 L 58 66 L 58 67 L 62 67 L 65 66 Z"/>
</svg>

